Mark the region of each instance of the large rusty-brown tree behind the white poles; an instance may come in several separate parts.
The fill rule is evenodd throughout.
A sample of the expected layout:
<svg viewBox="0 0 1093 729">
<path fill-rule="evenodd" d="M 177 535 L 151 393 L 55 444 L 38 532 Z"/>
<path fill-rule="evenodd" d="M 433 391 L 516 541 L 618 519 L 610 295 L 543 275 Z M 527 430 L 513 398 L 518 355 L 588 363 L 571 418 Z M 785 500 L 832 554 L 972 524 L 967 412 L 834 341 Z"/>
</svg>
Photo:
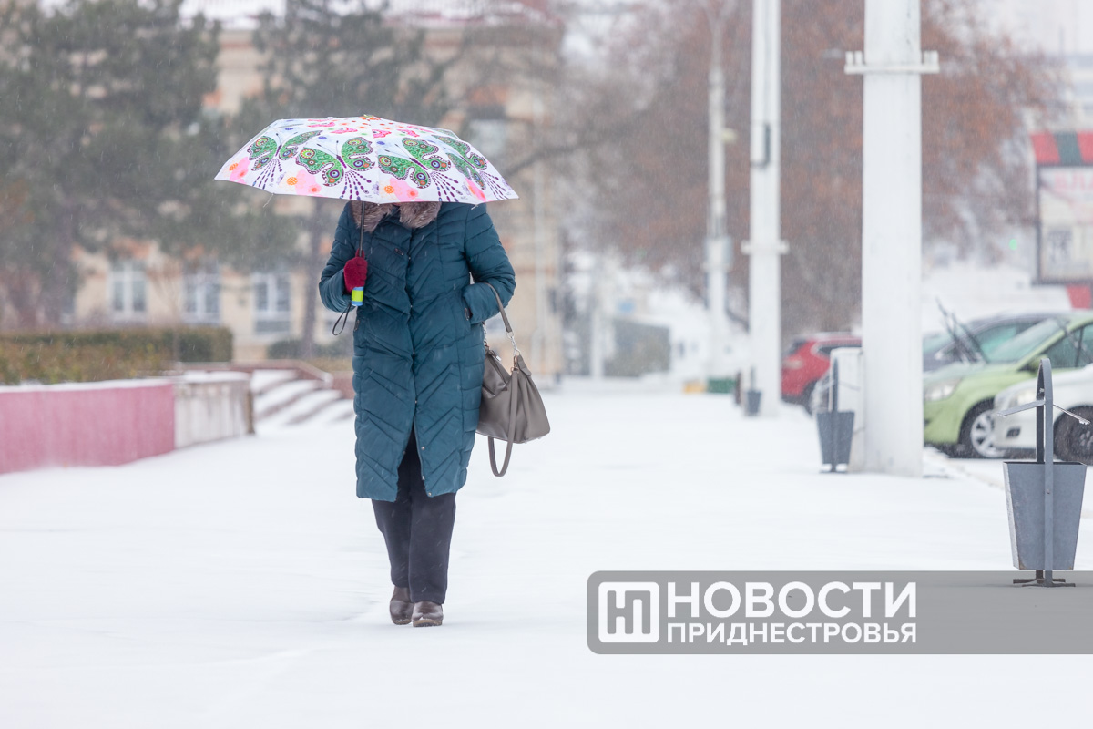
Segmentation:
<svg viewBox="0 0 1093 729">
<path fill-rule="evenodd" d="M 989 255 L 989 234 L 1032 214 L 1025 118 L 1059 109 L 1058 69 L 990 33 L 973 0 L 927 0 L 922 46 L 942 72 L 924 80 L 924 219 L 927 240 Z M 751 3 L 727 24 L 728 225 L 748 236 Z M 860 305 L 861 82 L 844 52 L 863 46 L 859 0 L 783 1 L 784 331 L 843 328 Z M 587 213 L 581 237 L 703 291 L 706 75 L 703 13 L 648 2 L 615 34 L 598 75 L 569 77 L 573 125 L 595 140 L 575 163 Z M 748 280 L 737 257 L 731 280 Z"/>
</svg>

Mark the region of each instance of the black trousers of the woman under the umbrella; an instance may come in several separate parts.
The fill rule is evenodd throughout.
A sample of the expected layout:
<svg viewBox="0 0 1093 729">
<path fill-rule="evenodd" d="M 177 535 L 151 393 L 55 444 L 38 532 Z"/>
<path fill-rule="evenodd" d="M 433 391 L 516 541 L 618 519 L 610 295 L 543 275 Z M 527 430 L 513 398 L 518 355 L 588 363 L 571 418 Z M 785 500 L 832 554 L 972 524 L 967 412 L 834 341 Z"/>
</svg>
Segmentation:
<svg viewBox="0 0 1093 729">
<path fill-rule="evenodd" d="M 427 496 L 413 432 L 399 465 L 393 502 L 373 499 L 376 526 L 387 542 L 391 583 L 409 587 L 414 602 L 444 604 L 448 590 L 448 551 L 456 521 L 456 495 Z"/>
</svg>

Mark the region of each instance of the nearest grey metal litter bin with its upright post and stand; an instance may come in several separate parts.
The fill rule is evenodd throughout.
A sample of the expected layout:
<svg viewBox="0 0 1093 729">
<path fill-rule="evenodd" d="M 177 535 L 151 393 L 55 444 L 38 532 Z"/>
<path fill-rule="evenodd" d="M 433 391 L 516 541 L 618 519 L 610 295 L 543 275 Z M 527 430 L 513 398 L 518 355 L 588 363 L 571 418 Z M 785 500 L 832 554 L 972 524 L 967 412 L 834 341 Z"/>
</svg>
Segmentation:
<svg viewBox="0 0 1093 729">
<path fill-rule="evenodd" d="M 1085 490 L 1084 463 L 1055 462 L 1055 404 L 1051 395 L 1051 361 L 1039 361 L 1036 400 L 995 413 L 1006 418 L 1036 409 L 1036 460 L 1007 461 L 1006 506 L 1009 510 L 1010 549 L 1013 566 L 1035 569 L 1035 577 L 1014 579 L 1014 585 L 1073 587 L 1053 576 L 1055 569 L 1073 569 Z M 1083 425 L 1089 421 L 1059 408 Z"/>
</svg>

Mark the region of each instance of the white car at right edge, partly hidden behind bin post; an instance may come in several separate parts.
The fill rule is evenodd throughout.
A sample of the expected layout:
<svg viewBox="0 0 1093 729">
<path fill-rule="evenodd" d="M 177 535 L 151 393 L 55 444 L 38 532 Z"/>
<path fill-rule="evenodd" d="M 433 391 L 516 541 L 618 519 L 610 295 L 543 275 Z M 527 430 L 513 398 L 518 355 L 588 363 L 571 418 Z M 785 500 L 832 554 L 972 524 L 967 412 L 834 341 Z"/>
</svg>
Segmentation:
<svg viewBox="0 0 1093 729">
<path fill-rule="evenodd" d="M 1055 410 L 1055 455 L 1061 460 L 1093 463 L 1093 365 L 1054 374 L 1051 399 L 1059 408 L 1091 421 L 1082 425 L 1062 410 Z M 995 397 L 995 410 L 1008 410 L 1036 399 L 1036 378 L 1011 385 Z M 1027 455 L 1036 449 L 1036 411 L 1024 410 L 994 418 L 995 448 L 1007 456 Z"/>
</svg>

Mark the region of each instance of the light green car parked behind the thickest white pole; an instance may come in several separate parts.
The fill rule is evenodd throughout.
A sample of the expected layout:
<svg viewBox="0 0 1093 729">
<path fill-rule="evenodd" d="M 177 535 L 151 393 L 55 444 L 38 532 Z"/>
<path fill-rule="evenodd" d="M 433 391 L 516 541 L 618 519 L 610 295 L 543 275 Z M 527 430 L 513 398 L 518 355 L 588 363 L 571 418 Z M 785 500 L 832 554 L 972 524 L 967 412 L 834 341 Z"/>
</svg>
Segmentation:
<svg viewBox="0 0 1093 729">
<path fill-rule="evenodd" d="M 995 349 L 988 362 L 956 363 L 928 373 L 922 380 L 926 444 L 949 456 L 1000 458 L 991 433 L 995 396 L 1035 377 L 1045 356 L 1053 372 L 1093 363 L 1093 313 L 1045 319 Z"/>
</svg>

